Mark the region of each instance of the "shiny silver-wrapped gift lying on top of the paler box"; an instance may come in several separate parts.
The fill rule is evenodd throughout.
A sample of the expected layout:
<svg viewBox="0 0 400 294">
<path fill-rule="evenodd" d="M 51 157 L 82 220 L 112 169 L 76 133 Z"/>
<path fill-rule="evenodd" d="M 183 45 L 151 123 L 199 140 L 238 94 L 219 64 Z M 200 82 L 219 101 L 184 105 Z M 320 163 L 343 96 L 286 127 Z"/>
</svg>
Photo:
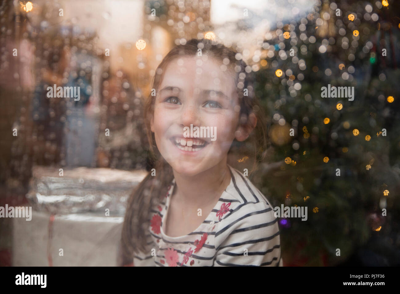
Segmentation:
<svg viewBox="0 0 400 294">
<path fill-rule="evenodd" d="M 51 214 L 106 212 L 123 215 L 132 190 L 143 180 L 145 170 L 125 171 L 110 168 L 64 169 L 35 166 L 32 169 L 28 198 L 37 211 Z"/>
</svg>

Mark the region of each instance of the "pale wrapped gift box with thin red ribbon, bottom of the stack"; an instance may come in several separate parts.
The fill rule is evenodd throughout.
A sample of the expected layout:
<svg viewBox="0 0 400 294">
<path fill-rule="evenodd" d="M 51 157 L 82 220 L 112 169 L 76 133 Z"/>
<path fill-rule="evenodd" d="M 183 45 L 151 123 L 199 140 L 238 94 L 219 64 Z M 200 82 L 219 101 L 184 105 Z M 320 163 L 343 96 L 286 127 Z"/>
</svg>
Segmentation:
<svg viewBox="0 0 400 294">
<path fill-rule="evenodd" d="M 123 220 L 94 212 L 14 218 L 12 265 L 116 266 Z"/>
</svg>

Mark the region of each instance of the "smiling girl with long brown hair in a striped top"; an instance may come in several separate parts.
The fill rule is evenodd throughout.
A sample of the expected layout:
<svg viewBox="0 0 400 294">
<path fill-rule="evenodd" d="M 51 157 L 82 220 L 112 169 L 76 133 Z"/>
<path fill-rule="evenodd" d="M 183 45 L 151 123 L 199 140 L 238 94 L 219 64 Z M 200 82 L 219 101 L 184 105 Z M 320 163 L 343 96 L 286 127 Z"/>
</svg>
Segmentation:
<svg viewBox="0 0 400 294">
<path fill-rule="evenodd" d="M 144 110 L 155 171 L 130 196 L 122 229 L 134 266 L 282 266 L 270 202 L 228 164 L 245 140 L 254 160 L 266 146 L 249 72 L 207 39 L 176 46 L 156 69 Z M 215 138 L 188 136 L 191 127 Z"/>
</svg>

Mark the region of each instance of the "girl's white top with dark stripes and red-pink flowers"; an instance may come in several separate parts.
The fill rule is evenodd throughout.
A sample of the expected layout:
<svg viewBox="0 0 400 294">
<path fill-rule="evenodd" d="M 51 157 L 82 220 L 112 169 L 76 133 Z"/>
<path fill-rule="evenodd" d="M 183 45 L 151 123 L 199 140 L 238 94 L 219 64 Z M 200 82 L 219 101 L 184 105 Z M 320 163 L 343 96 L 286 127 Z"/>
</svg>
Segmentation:
<svg viewBox="0 0 400 294">
<path fill-rule="evenodd" d="M 229 166 L 229 165 L 228 165 Z M 134 266 L 283 266 L 278 219 L 265 196 L 229 166 L 231 181 L 206 220 L 185 236 L 170 237 L 163 224 L 175 187 L 152 209 L 147 252 Z"/>
</svg>

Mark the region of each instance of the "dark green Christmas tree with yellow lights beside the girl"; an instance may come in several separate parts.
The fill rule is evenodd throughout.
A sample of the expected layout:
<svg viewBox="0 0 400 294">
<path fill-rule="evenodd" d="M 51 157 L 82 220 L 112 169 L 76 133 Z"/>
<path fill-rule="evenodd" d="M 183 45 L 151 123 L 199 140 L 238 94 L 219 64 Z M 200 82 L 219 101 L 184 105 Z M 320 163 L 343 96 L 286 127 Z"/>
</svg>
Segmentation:
<svg viewBox="0 0 400 294">
<path fill-rule="evenodd" d="M 254 181 L 273 206 L 308 207 L 279 218 L 285 265 L 400 264 L 395 11 L 325 1 L 266 34 L 255 76 L 271 147 Z"/>
</svg>

